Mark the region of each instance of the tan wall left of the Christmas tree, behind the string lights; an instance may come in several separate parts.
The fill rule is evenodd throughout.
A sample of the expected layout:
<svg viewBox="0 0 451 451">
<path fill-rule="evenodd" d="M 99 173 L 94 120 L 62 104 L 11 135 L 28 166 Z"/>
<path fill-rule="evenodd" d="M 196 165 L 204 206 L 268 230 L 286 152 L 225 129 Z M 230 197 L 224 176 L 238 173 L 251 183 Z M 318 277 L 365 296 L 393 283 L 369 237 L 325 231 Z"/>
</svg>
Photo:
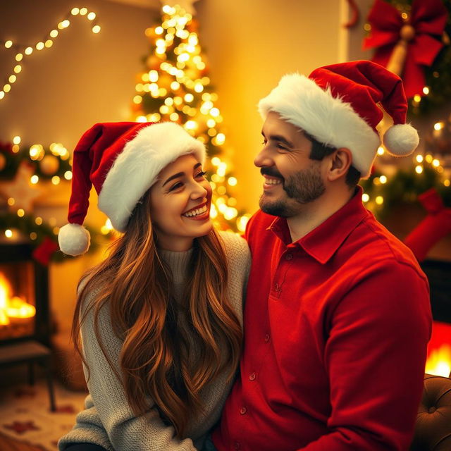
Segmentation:
<svg viewBox="0 0 451 451">
<path fill-rule="evenodd" d="M 87 20 L 71 25 L 51 49 L 34 51 L 11 92 L 0 103 L 0 140 L 62 142 L 72 148 L 92 124 L 130 118 L 135 76 L 147 54 L 146 27 L 158 11 L 104 0 L 15 0 L 0 4 L 0 39 L 31 43 L 44 39 L 74 6 L 94 11 L 101 32 Z M 0 51 L 1 76 L 11 73 L 14 54 Z"/>
</svg>

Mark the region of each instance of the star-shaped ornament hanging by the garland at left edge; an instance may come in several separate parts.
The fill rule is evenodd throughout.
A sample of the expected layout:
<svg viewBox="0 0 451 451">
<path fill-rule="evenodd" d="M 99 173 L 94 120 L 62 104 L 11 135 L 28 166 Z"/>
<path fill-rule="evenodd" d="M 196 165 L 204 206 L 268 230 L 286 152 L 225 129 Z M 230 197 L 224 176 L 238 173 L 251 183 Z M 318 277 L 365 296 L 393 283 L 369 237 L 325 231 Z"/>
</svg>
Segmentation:
<svg viewBox="0 0 451 451">
<path fill-rule="evenodd" d="M 0 193 L 3 194 L 6 199 L 13 199 L 13 202 L 8 202 L 8 205 L 14 210 L 23 209 L 30 212 L 35 199 L 41 196 L 42 190 L 39 190 L 39 188 L 30 181 L 32 175 L 32 166 L 27 163 L 20 163 L 16 178 L 13 182 L 1 184 Z"/>
</svg>

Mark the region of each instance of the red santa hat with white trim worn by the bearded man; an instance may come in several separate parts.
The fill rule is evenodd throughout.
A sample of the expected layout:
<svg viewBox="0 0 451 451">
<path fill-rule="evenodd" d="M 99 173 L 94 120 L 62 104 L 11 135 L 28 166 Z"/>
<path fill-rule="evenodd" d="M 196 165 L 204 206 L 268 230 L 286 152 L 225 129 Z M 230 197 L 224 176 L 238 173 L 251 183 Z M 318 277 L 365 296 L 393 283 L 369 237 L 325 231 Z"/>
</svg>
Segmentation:
<svg viewBox="0 0 451 451">
<path fill-rule="evenodd" d="M 350 149 L 353 166 L 367 178 L 381 145 L 376 130 L 383 118 L 379 104 L 393 118 L 383 137 L 388 152 L 395 156 L 414 152 L 419 137 L 406 123 L 402 81 L 372 61 L 324 66 L 308 78 L 299 73 L 284 75 L 261 99 L 259 112 L 266 119 L 269 111 L 275 111 L 322 144 Z"/>
</svg>

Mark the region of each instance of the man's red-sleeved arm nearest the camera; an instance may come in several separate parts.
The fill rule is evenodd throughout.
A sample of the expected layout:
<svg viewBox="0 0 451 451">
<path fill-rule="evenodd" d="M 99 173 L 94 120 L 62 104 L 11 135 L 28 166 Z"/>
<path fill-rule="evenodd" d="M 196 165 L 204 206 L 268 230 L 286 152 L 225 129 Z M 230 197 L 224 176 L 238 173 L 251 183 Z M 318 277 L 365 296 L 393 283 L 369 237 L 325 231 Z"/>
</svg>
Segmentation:
<svg viewBox="0 0 451 451">
<path fill-rule="evenodd" d="M 302 451 L 407 450 L 430 334 L 428 284 L 414 268 L 362 268 L 330 315 L 330 433 Z"/>
</svg>

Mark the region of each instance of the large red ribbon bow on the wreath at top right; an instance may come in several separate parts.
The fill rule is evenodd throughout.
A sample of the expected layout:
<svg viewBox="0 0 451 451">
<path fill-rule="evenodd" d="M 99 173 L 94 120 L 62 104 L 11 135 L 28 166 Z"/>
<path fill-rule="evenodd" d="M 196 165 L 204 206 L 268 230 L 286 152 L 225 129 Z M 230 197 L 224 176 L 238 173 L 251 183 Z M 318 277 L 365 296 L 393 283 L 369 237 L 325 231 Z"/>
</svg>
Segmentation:
<svg viewBox="0 0 451 451">
<path fill-rule="evenodd" d="M 443 2 L 415 0 L 409 19 L 404 20 L 394 6 L 383 0 L 376 0 L 368 21 L 371 24 L 371 35 L 366 37 L 363 47 L 377 47 L 372 61 L 387 67 L 395 45 L 404 37 L 407 41 L 407 56 L 402 72 L 404 90 L 407 98 L 415 94 L 423 95 L 425 78 L 421 66 L 431 66 L 443 47 L 440 39 L 447 21 L 447 10 Z M 404 35 L 403 32 L 406 31 L 407 35 Z"/>
</svg>

